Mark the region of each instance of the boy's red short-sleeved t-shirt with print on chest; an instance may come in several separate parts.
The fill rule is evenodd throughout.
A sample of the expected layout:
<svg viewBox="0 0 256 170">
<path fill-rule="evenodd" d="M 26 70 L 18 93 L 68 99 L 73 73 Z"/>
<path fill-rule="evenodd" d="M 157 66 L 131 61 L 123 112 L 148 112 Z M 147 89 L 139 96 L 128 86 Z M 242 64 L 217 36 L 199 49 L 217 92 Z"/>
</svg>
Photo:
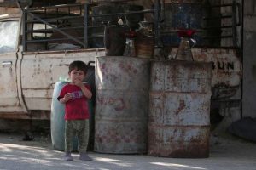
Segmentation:
<svg viewBox="0 0 256 170">
<path fill-rule="evenodd" d="M 84 86 L 90 90 L 89 84 L 84 84 Z M 88 99 L 84 96 L 81 88 L 73 84 L 67 84 L 61 89 L 58 99 L 63 98 L 67 93 L 71 93 L 73 99 L 65 104 L 65 120 L 89 119 Z"/>
</svg>

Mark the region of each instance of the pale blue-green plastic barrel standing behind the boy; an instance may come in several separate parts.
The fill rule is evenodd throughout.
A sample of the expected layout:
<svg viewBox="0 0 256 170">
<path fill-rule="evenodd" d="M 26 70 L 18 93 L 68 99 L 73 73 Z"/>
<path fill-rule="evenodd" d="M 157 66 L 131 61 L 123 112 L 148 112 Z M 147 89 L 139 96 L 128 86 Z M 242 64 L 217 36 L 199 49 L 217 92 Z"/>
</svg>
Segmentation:
<svg viewBox="0 0 256 170">
<path fill-rule="evenodd" d="M 51 142 L 55 150 L 64 150 L 65 148 L 65 105 L 61 104 L 57 97 L 61 89 L 68 82 L 56 82 L 54 92 L 52 95 L 51 114 L 50 114 L 50 133 Z M 90 113 L 92 112 L 92 103 L 89 101 Z M 92 117 L 92 116 L 90 116 Z M 90 123 L 92 120 L 90 119 Z M 90 144 L 89 144 L 90 145 Z M 78 140 L 73 138 L 73 151 L 78 150 Z"/>
</svg>

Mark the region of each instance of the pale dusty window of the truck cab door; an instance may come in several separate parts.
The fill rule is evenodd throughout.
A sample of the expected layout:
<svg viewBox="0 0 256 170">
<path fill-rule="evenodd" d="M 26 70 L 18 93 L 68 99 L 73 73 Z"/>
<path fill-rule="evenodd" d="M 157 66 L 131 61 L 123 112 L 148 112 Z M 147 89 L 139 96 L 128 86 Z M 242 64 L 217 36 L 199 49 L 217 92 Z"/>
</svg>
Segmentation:
<svg viewBox="0 0 256 170">
<path fill-rule="evenodd" d="M 18 41 L 18 20 L 0 22 L 0 54 L 15 51 Z"/>
</svg>

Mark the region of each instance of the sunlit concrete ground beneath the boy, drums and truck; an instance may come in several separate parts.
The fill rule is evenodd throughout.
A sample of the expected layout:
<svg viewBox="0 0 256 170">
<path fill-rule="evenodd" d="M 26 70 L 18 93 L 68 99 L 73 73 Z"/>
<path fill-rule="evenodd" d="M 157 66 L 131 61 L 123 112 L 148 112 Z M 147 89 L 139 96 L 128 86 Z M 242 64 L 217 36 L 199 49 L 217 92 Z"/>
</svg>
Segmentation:
<svg viewBox="0 0 256 170">
<path fill-rule="evenodd" d="M 256 144 L 235 137 L 211 137 L 210 157 L 163 158 L 147 155 L 111 155 L 90 152 L 94 161 L 63 161 L 63 152 L 52 149 L 50 139 L 0 133 L 0 170 L 256 170 Z"/>
</svg>

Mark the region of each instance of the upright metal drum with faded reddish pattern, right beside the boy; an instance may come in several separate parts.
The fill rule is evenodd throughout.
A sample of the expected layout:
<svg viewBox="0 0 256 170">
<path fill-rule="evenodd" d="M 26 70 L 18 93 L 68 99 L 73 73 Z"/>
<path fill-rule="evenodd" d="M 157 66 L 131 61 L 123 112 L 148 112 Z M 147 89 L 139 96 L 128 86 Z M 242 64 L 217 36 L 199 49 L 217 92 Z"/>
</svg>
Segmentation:
<svg viewBox="0 0 256 170">
<path fill-rule="evenodd" d="M 148 59 L 96 58 L 95 151 L 147 152 L 148 90 Z"/>
</svg>

